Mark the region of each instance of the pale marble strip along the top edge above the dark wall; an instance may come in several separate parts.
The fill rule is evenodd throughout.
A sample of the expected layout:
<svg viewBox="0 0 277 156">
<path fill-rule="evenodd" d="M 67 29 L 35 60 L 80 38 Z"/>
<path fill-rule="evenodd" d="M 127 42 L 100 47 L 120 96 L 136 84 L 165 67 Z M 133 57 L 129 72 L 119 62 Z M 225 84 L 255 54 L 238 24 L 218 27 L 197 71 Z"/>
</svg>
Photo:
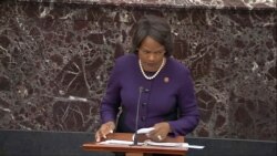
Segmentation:
<svg viewBox="0 0 277 156">
<path fill-rule="evenodd" d="M 276 8 L 276 0 L 19 0 L 38 2 L 62 2 L 84 4 L 114 4 L 141 7 L 174 7 L 174 8 L 239 8 L 264 9 Z"/>
</svg>

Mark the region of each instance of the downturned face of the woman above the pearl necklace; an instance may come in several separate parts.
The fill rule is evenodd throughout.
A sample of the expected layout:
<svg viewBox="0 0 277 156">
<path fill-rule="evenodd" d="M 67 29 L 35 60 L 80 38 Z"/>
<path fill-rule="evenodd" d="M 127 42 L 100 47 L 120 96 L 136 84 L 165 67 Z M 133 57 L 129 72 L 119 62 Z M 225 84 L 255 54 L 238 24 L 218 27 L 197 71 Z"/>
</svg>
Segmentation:
<svg viewBox="0 0 277 156">
<path fill-rule="evenodd" d="M 143 70 L 155 72 L 161 66 L 165 54 L 164 45 L 151 37 L 146 37 L 138 48 L 138 58 L 142 62 Z"/>
</svg>

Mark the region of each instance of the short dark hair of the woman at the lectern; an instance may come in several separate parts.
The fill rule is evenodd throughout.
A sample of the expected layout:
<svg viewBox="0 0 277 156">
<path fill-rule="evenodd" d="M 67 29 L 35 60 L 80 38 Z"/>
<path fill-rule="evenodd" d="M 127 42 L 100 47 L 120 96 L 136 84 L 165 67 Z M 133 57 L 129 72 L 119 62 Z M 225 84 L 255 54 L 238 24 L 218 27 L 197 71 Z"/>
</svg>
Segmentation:
<svg viewBox="0 0 277 156">
<path fill-rule="evenodd" d="M 172 55 L 173 41 L 171 27 L 164 18 L 144 15 L 137 21 L 132 37 L 131 52 L 137 54 L 137 48 L 141 46 L 142 41 L 146 37 L 153 38 L 160 44 L 165 46 L 165 56 Z"/>
</svg>

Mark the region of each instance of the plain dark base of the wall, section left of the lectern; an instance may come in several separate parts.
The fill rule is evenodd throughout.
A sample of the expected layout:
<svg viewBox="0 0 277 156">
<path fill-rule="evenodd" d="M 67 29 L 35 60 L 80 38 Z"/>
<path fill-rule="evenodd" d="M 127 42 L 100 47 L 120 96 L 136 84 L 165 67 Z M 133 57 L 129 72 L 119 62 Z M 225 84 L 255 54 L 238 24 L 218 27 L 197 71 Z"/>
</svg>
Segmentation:
<svg viewBox="0 0 277 156">
<path fill-rule="evenodd" d="M 82 144 L 93 137 L 90 133 L 0 131 L 0 156 L 110 156 L 82 150 Z"/>
</svg>

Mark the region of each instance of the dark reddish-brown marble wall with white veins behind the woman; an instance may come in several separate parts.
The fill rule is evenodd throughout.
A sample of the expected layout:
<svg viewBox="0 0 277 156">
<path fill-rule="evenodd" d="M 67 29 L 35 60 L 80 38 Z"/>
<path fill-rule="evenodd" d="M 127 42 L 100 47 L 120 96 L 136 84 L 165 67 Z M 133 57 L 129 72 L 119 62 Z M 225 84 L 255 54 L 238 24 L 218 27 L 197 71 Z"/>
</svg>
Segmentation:
<svg viewBox="0 0 277 156">
<path fill-rule="evenodd" d="M 113 61 L 153 13 L 193 73 L 192 136 L 276 141 L 275 1 L 1 1 L 0 129 L 94 132 Z"/>
</svg>

